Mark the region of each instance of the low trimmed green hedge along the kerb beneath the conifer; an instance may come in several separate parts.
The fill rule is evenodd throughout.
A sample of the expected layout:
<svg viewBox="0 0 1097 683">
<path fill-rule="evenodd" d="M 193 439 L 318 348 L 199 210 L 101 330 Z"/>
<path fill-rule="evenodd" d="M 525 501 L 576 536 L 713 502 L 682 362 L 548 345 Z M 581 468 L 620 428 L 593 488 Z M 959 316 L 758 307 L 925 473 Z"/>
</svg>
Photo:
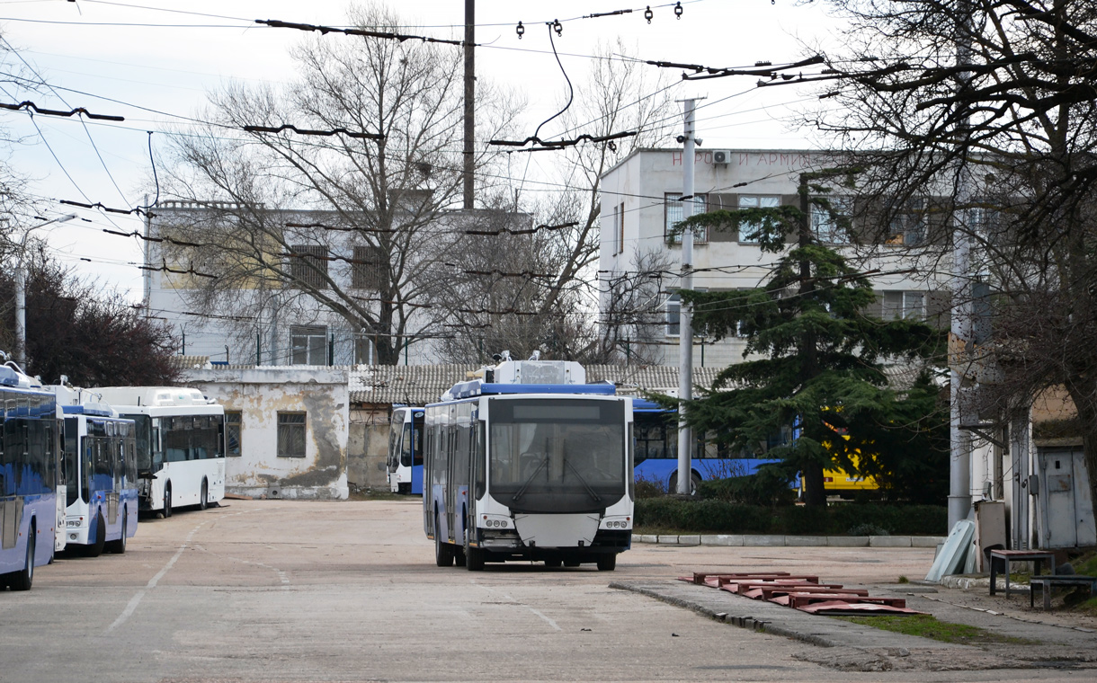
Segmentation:
<svg viewBox="0 0 1097 683">
<path fill-rule="evenodd" d="M 713 534 L 945 535 L 948 508 L 885 503 L 838 503 L 825 509 L 769 508 L 721 500 L 643 498 L 635 524 Z"/>
</svg>

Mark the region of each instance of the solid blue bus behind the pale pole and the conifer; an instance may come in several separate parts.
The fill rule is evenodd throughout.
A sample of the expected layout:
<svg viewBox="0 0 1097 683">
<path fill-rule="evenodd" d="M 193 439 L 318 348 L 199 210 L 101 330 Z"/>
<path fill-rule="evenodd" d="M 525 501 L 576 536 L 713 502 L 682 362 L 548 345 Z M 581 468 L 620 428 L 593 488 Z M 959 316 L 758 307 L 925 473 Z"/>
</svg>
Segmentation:
<svg viewBox="0 0 1097 683">
<path fill-rule="evenodd" d="M 678 490 L 678 412 L 647 399 L 633 399 L 636 439 L 636 481 L 647 481 L 659 491 Z M 769 444 L 774 445 L 774 444 Z M 773 458 L 732 457 L 726 451 L 700 440 L 694 441 L 690 458 L 690 492 L 701 481 L 753 475 Z"/>
</svg>

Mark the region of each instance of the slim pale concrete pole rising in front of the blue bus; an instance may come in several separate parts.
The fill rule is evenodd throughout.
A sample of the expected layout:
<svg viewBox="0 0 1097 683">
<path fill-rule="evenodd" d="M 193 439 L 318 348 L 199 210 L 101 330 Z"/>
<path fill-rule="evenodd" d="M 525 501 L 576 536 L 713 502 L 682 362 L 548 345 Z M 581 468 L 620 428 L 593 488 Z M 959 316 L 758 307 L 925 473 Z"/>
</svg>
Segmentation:
<svg viewBox="0 0 1097 683">
<path fill-rule="evenodd" d="M 686 132 L 682 136 L 682 219 L 693 215 L 693 100 L 685 101 Z M 693 231 L 682 232 L 680 286 L 693 288 Z M 693 398 L 693 316 L 686 301 L 679 301 L 678 328 L 678 493 L 689 494 L 692 487 L 692 430 L 686 424 L 686 401 Z"/>
</svg>

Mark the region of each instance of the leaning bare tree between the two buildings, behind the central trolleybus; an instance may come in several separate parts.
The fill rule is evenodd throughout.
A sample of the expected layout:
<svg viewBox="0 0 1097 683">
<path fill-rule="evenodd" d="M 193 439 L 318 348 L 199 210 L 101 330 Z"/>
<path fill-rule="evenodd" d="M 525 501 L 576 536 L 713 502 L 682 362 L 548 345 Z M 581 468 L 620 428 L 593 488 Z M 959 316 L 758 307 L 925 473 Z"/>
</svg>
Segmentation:
<svg viewBox="0 0 1097 683">
<path fill-rule="evenodd" d="M 507 263 L 504 270 L 510 274 L 477 283 L 478 296 L 485 301 L 482 309 L 495 315 L 463 318 L 467 323 L 465 338 L 448 344 L 451 361 L 482 358 L 502 349 L 516 357 L 543 351 L 552 357 L 586 363 L 620 361 L 626 356 L 626 349 L 618 343 L 630 334 L 626 326 L 637 316 L 652 315 L 651 310 L 641 315 L 634 307 L 638 301 L 647 301 L 652 309 L 659 307 L 655 297 L 641 294 L 646 292 L 649 280 L 623 273 L 608 276 L 614 283 L 614 309 L 598 315 L 601 177 L 634 149 L 657 141 L 674 119 L 672 103 L 665 92 L 667 82 L 652 78 L 627 53 L 620 41 L 600 47 L 587 81 L 565 96 L 562 107 L 569 100 L 574 104 L 556 119 L 558 125 L 553 123 L 554 134 L 542 133 L 540 137 L 632 135 L 610 143 L 580 143 L 539 152 L 542 161 L 552 155 L 552 169 L 563 186 L 547 200 L 534 202 L 531 209 L 539 223 L 551 229 L 500 238 L 483 251 L 477 250 L 494 254 L 496 263 Z M 523 152 L 512 156 L 512 167 L 527 162 Z M 525 204 L 521 182 L 517 182 L 519 186 L 511 187 L 509 197 L 500 197 L 500 205 Z M 626 309 L 629 314 L 622 315 Z M 646 357 L 640 349 L 634 346 L 629 352 Z"/>
</svg>

